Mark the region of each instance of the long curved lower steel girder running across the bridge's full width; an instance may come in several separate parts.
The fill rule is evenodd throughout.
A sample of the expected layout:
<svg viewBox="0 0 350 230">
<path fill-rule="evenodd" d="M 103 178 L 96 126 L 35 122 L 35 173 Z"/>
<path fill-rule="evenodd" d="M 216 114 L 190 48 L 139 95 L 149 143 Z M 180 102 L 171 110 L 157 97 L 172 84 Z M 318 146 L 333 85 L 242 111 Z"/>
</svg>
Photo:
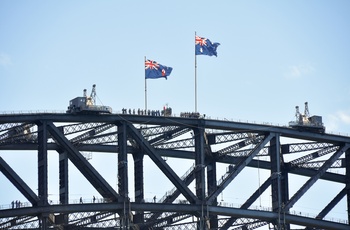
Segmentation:
<svg viewBox="0 0 350 230">
<path fill-rule="evenodd" d="M 45 206 L 45 207 L 33 207 L 29 210 L 24 209 L 14 209 L 14 210 L 0 210 L 0 216 L 4 219 L 8 216 L 13 217 L 25 217 L 25 216 L 36 216 L 40 213 L 50 213 L 53 210 L 57 213 L 91 213 L 91 215 L 97 215 L 97 212 L 100 212 L 103 215 L 103 213 L 111 212 L 122 212 L 124 209 L 123 203 L 101 203 L 101 204 L 71 204 L 71 205 L 51 205 L 51 206 Z M 157 204 L 157 203 L 130 203 L 130 209 L 131 210 L 148 210 L 151 212 L 174 212 L 178 213 L 195 213 L 200 212 L 202 210 L 202 205 L 194 205 L 194 204 Z M 206 208 L 206 211 L 221 215 L 221 216 L 235 216 L 239 219 L 245 219 L 245 218 L 252 218 L 252 219 L 259 219 L 259 220 L 265 220 L 266 222 L 274 221 L 278 218 L 278 213 L 270 212 L 270 211 L 262 211 L 262 210 L 252 210 L 252 209 L 241 209 L 241 208 L 232 208 L 232 207 L 221 207 L 221 206 L 208 206 Z M 5 213 L 4 213 L 5 212 Z M 84 216 L 86 216 L 84 214 Z M 26 217 L 25 217 L 26 218 Z M 55 219 L 57 216 L 55 216 Z M 81 222 L 81 218 L 78 217 L 77 219 L 71 218 L 71 223 L 75 222 Z M 118 218 L 119 219 L 119 218 Z M 9 222 L 11 222 L 11 219 L 7 219 Z M 115 221 L 115 218 L 113 219 Z M 57 220 L 55 220 L 57 221 Z M 316 229 L 349 229 L 349 226 L 347 224 L 332 222 L 332 221 L 326 221 L 321 219 L 314 219 L 310 217 L 304 217 L 304 216 L 298 216 L 298 215 L 292 215 L 286 213 L 284 215 L 284 221 L 287 223 L 295 223 L 298 225 L 304 225 L 304 226 L 311 226 Z M 58 223 L 58 222 L 56 222 Z M 119 223 L 118 223 L 119 225 Z M 168 227 L 170 227 L 168 225 Z M 102 228 L 102 227 L 101 227 Z M 86 227 L 88 229 L 88 227 Z"/>
</svg>

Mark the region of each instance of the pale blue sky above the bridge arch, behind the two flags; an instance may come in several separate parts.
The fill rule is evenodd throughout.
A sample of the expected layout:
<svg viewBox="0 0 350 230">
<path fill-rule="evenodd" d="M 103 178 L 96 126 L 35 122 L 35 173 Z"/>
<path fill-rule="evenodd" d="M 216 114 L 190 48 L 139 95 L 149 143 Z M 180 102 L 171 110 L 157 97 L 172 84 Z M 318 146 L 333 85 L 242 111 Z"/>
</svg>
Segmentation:
<svg viewBox="0 0 350 230">
<path fill-rule="evenodd" d="M 1 112 L 65 111 L 97 85 L 115 112 L 144 108 L 144 58 L 170 66 L 147 81 L 147 104 L 287 125 L 309 102 L 327 131 L 350 134 L 350 2 L 0 1 Z"/>
</svg>

